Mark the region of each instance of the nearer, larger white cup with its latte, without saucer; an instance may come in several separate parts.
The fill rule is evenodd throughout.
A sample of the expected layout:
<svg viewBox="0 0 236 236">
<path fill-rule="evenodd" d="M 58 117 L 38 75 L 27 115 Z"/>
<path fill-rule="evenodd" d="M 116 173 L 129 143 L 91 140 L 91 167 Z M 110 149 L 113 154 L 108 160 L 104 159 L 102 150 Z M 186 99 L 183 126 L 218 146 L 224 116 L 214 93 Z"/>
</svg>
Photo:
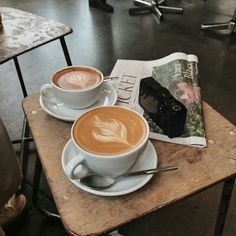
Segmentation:
<svg viewBox="0 0 236 236">
<path fill-rule="evenodd" d="M 72 126 L 71 139 L 78 155 L 67 164 L 65 172 L 72 179 L 84 177 L 83 166 L 99 175 L 123 174 L 144 151 L 148 137 L 146 120 L 131 109 L 120 106 L 91 109 Z"/>
</svg>

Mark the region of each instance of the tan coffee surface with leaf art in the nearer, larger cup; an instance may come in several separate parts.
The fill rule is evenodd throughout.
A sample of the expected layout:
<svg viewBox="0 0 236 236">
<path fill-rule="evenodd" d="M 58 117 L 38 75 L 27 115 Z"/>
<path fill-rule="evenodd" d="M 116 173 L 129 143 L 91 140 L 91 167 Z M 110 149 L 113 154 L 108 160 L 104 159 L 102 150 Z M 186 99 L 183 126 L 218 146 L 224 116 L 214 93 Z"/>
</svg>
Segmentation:
<svg viewBox="0 0 236 236">
<path fill-rule="evenodd" d="M 94 109 L 80 117 L 73 128 L 73 137 L 82 149 L 104 156 L 134 149 L 146 133 L 141 117 L 117 106 Z"/>
</svg>

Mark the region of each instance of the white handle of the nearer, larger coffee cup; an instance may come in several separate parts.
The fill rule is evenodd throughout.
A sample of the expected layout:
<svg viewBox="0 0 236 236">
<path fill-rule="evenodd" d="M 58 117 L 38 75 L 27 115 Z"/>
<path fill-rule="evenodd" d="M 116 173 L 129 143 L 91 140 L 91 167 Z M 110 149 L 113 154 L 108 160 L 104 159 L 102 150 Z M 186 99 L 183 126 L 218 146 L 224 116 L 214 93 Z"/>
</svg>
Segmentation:
<svg viewBox="0 0 236 236">
<path fill-rule="evenodd" d="M 70 179 L 81 179 L 87 176 L 89 170 L 85 165 L 84 157 L 82 155 L 78 155 L 70 160 L 65 167 L 65 173 Z"/>
</svg>

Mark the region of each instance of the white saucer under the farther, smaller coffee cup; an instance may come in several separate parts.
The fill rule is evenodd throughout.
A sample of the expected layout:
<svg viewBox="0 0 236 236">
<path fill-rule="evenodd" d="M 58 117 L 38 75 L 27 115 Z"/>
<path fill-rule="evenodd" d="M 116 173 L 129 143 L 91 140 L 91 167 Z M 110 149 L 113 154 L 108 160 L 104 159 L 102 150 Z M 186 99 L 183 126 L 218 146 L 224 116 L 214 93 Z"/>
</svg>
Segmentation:
<svg viewBox="0 0 236 236">
<path fill-rule="evenodd" d="M 56 100 L 56 99 L 54 99 Z M 84 109 L 72 109 L 64 104 L 55 106 L 40 95 L 39 102 L 43 110 L 54 118 L 73 122 L 76 118 L 83 115 L 86 111 L 97 106 L 114 105 L 117 101 L 117 93 L 110 83 L 105 83 L 98 101 L 90 107 Z M 59 102 L 58 102 L 59 103 Z"/>
</svg>

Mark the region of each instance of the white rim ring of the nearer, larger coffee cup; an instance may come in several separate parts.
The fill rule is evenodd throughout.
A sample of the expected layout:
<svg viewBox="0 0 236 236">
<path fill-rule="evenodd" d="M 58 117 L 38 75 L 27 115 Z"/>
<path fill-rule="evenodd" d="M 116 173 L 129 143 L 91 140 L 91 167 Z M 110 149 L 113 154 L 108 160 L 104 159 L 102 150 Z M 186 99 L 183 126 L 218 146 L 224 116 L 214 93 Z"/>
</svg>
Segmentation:
<svg viewBox="0 0 236 236">
<path fill-rule="evenodd" d="M 106 108 L 113 108 L 113 109 L 114 109 L 114 108 L 116 108 L 116 107 L 121 108 L 121 109 L 126 109 L 126 110 L 128 110 L 128 111 L 131 111 L 131 112 L 135 113 L 136 115 L 138 115 L 138 116 L 143 120 L 144 124 L 146 125 L 146 129 L 147 129 L 146 136 L 144 137 L 143 141 L 142 141 L 137 147 L 135 147 L 134 149 L 132 149 L 132 150 L 130 150 L 130 151 L 128 151 L 128 152 L 125 152 L 125 153 L 121 153 L 121 154 L 117 154 L 117 155 L 106 155 L 106 156 L 105 156 L 105 155 L 98 155 L 98 154 L 90 153 L 90 152 L 84 150 L 82 147 L 80 147 L 80 146 L 75 142 L 75 139 L 74 139 L 74 137 L 73 137 L 73 129 L 74 129 L 74 126 L 75 126 L 75 123 L 77 122 L 77 120 L 79 120 L 82 116 L 86 115 L 88 112 L 91 112 L 91 111 L 93 111 L 93 110 L 101 109 L 101 108 L 105 108 L 105 109 L 106 109 Z M 136 112 L 136 111 L 134 111 L 134 110 L 132 110 L 132 109 L 130 109 L 130 108 L 122 107 L 122 106 L 117 106 L 117 105 L 115 105 L 115 106 L 98 106 L 98 107 L 95 107 L 95 108 L 92 108 L 92 109 L 88 110 L 87 112 L 85 112 L 83 115 L 81 115 L 80 117 L 78 117 L 78 118 L 74 121 L 74 123 L 73 123 L 73 125 L 72 125 L 72 128 L 71 128 L 71 140 L 73 141 L 74 145 L 75 145 L 79 150 L 82 150 L 82 151 L 85 153 L 85 155 L 87 154 L 87 155 L 89 155 L 89 156 L 94 156 L 94 157 L 96 157 L 96 158 L 101 158 L 101 159 L 107 159 L 108 156 L 109 156 L 109 158 L 117 158 L 117 157 L 119 157 L 119 158 L 125 158 L 127 155 L 130 155 L 130 154 L 136 152 L 137 149 L 140 148 L 140 146 L 145 145 L 145 144 L 148 142 L 149 134 L 150 134 L 149 125 L 148 125 L 147 121 L 145 120 L 145 118 L 144 118 L 143 116 L 141 116 L 138 112 Z"/>
</svg>

